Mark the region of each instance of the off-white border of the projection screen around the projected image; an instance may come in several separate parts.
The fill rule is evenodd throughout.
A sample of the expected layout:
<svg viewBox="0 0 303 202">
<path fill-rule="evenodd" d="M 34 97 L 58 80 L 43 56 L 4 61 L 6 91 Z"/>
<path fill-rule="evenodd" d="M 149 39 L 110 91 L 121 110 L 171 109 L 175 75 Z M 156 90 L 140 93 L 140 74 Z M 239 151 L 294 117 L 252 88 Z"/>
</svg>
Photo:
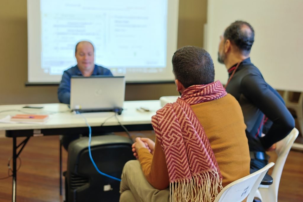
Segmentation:
<svg viewBox="0 0 303 202">
<path fill-rule="evenodd" d="M 28 0 L 27 12 L 28 12 L 28 82 L 27 84 L 47 84 L 47 83 L 58 83 L 61 81 L 62 73 L 58 75 L 50 75 L 45 69 L 42 68 L 41 57 L 42 57 L 42 25 L 41 25 L 41 13 L 40 13 L 40 1 L 43 0 Z M 92 0 L 90 0 L 92 2 Z M 71 1 L 74 2 L 74 1 Z M 132 2 L 132 1 L 130 1 Z M 135 1 L 134 1 L 135 2 Z M 153 68 L 140 68 L 134 66 L 133 68 L 118 67 L 111 68 L 102 62 L 98 61 L 98 55 L 100 52 L 94 41 L 95 45 L 95 63 L 102 65 L 106 68 L 111 69 L 115 76 L 125 76 L 127 83 L 146 83 L 146 82 L 166 82 L 173 81 L 174 76 L 172 73 L 171 57 L 177 49 L 177 35 L 178 35 L 178 0 L 167 0 L 167 30 L 166 31 L 166 55 L 165 61 L 162 63 L 163 66 Z M 161 11 L 153 10 L 154 15 L 157 16 Z M 46 27 L 46 26 L 45 26 Z M 83 40 L 89 38 L 83 38 Z M 148 38 L 146 39 L 148 40 Z M 75 45 L 78 41 L 71 46 L 71 52 L 69 60 L 72 62 L 66 64 L 66 69 L 76 65 L 75 60 Z M 119 58 L 118 58 L 119 59 Z M 166 66 L 166 67 L 165 67 Z"/>
</svg>

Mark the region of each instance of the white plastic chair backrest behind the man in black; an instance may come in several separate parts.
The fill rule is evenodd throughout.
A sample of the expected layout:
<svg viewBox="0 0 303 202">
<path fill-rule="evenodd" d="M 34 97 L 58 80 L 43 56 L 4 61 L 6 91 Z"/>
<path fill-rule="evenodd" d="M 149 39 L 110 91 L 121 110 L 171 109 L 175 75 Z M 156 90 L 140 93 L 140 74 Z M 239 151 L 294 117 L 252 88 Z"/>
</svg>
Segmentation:
<svg viewBox="0 0 303 202">
<path fill-rule="evenodd" d="M 269 192 L 275 193 L 275 197 L 278 197 L 278 189 L 281 179 L 281 174 L 283 171 L 283 167 L 288 156 L 288 153 L 291 149 L 291 146 L 294 144 L 294 141 L 298 137 L 299 131 L 294 128 L 292 131 L 282 140 L 277 142 L 276 152 L 278 154 L 278 158 L 275 164 L 275 167 L 271 173 L 271 177 L 273 178 L 273 184 L 271 184 L 269 188 Z"/>
</svg>

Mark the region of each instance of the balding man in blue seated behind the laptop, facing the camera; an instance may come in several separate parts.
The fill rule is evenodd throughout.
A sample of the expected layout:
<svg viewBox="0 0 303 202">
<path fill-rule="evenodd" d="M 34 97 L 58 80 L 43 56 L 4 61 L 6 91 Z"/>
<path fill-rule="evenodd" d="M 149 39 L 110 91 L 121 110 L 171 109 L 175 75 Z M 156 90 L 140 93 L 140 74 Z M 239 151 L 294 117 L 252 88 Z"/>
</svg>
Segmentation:
<svg viewBox="0 0 303 202">
<path fill-rule="evenodd" d="M 65 70 L 58 88 L 58 99 L 61 103 L 70 104 L 71 77 L 91 75 L 111 75 L 112 72 L 102 66 L 95 65 L 95 48 L 89 41 L 80 41 L 75 48 L 77 65 Z M 68 144 L 79 138 L 79 134 L 64 135 L 63 147 L 67 150 Z"/>
</svg>

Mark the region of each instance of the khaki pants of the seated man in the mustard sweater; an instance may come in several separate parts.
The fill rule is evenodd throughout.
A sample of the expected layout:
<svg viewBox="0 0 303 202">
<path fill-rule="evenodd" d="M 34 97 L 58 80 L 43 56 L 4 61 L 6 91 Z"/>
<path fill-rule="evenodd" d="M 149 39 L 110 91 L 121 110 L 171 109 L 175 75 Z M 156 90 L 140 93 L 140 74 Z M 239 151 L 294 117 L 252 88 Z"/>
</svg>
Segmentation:
<svg viewBox="0 0 303 202">
<path fill-rule="evenodd" d="M 146 180 L 138 160 L 128 161 L 124 165 L 120 193 L 120 202 L 169 201 L 169 188 L 158 190 L 151 186 Z"/>
</svg>

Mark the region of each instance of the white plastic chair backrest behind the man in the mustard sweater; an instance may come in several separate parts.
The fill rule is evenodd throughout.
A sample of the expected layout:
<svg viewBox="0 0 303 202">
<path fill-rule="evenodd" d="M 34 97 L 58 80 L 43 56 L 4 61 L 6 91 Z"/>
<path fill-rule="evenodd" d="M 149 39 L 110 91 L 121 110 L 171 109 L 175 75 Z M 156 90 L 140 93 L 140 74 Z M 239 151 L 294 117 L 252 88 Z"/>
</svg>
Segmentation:
<svg viewBox="0 0 303 202">
<path fill-rule="evenodd" d="M 248 202 L 252 202 L 263 177 L 273 165 L 275 163 L 271 162 L 262 169 L 228 184 L 220 191 L 214 202 L 241 202 L 246 197 Z"/>
</svg>

